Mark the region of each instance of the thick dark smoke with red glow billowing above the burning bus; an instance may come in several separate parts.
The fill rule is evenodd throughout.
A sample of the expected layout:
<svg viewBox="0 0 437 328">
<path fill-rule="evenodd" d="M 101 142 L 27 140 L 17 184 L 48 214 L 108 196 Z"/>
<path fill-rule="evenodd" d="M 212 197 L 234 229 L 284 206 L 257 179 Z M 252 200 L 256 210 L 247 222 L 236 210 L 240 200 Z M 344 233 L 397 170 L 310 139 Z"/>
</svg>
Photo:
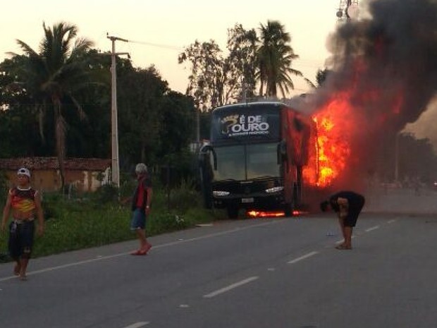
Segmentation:
<svg viewBox="0 0 437 328">
<path fill-rule="evenodd" d="M 314 113 L 340 93 L 349 95 L 355 164 L 348 176 L 378 171 L 396 134 L 418 119 L 437 90 L 437 0 L 365 5 L 367 18 L 339 25 L 328 41 L 333 71 L 306 109 Z"/>
</svg>

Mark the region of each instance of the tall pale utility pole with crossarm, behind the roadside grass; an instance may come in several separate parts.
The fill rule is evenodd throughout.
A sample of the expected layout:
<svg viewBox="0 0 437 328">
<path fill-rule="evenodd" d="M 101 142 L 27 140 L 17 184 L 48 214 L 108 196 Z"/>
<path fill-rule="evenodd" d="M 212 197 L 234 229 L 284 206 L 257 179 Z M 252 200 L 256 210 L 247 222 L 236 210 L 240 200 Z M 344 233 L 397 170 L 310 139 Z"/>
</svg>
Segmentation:
<svg viewBox="0 0 437 328">
<path fill-rule="evenodd" d="M 128 40 L 121 39 L 121 37 L 111 37 L 107 35 L 112 42 L 111 51 L 111 145 L 112 145 L 112 183 L 120 188 L 120 161 L 118 159 L 118 114 L 117 114 L 117 70 L 116 70 L 116 56 L 127 54 L 128 52 L 116 53 L 116 41 L 128 42 Z"/>
</svg>

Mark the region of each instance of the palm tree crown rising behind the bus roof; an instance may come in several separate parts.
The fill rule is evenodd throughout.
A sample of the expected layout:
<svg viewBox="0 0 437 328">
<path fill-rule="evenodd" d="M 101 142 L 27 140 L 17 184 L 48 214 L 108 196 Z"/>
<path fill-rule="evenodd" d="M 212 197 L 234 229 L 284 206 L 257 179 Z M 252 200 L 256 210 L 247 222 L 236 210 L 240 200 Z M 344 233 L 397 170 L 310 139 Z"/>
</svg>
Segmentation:
<svg viewBox="0 0 437 328">
<path fill-rule="evenodd" d="M 290 34 L 277 20 L 261 24 L 261 44 L 257 49 L 257 80 L 260 82 L 259 95 L 276 97 L 278 88 L 283 97 L 294 89 L 290 74 L 302 76 L 302 72 L 291 68 L 293 59 L 299 56 L 288 45 Z M 264 90 L 265 89 L 265 90 Z"/>
</svg>

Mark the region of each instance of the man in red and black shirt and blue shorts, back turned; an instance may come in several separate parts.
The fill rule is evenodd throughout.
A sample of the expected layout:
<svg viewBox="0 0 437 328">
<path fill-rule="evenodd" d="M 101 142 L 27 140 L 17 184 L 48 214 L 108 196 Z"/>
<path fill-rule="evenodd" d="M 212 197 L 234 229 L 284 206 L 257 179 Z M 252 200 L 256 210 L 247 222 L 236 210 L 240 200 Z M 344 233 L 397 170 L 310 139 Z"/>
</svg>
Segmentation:
<svg viewBox="0 0 437 328">
<path fill-rule="evenodd" d="M 152 248 L 146 238 L 146 219 L 149 217 L 152 202 L 152 180 L 147 174 L 147 166 L 143 163 L 135 166 L 135 174 L 137 174 L 138 184 L 132 199 L 133 214 L 130 229 L 136 231 L 140 241 L 140 248 L 131 254 L 146 255 Z"/>
</svg>

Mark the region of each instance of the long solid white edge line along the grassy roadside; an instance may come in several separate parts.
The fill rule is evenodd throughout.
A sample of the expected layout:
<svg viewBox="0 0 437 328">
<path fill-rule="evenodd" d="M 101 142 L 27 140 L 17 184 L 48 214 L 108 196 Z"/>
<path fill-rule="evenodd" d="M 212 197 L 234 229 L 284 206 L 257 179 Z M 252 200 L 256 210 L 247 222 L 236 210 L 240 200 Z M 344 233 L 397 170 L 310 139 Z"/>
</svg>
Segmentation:
<svg viewBox="0 0 437 328">
<path fill-rule="evenodd" d="M 173 242 L 170 242 L 170 243 L 165 243 L 165 244 L 153 246 L 152 250 L 157 249 L 157 248 L 164 248 L 164 247 L 168 247 L 168 246 L 178 245 L 180 243 L 188 243 L 190 241 L 200 241 L 200 240 L 206 239 L 206 238 L 222 236 L 222 235 L 226 235 L 228 233 L 233 233 L 233 232 L 236 232 L 236 231 L 242 231 L 242 230 L 246 230 L 246 229 L 256 228 L 258 226 L 266 226 L 266 225 L 269 225 L 269 224 L 276 224 L 278 222 L 280 222 L 280 221 L 279 220 L 268 221 L 268 222 L 263 222 L 261 224 L 254 224 L 252 226 L 242 226 L 242 227 L 237 227 L 235 229 L 221 231 L 221 232 L 218 232 L 218 233 L 210 233 L 209 235 L 195 237 L 195 238 L 190 238 L 190 239 L 185 239 L 185 240 L 182 240 L 182 241 L 173 241 Z M 58 265 L 56 267 L 47 267 L 46 269 L 40 269 L 40 270 L 36 270 L 36 271 L 32 271 L 32 272 L 27 272 L 27 276 L 31 276 L 32 274 L 42 274 L 44 272 L 50 272 L 50 271 L 59 270 L 59 269 L 65 269 L 65 268 L 68 268 L 68 267 L 75 267 L 75 266 L 78 266 L 78 265 L 85 265 L 87 263 L 97 262 L 97 261 L 101 261 L 101 260 L 108 260 L 108 259 L 111 259 L 111 258 L 114 258 L 114 257 L 120 257 L 120 256 L 124 256 L 124 255 L 129 255 L 129 254 L 130 254 L 130 252 L 113 254 L 113 255 L 107 255 L 107 256 L 97 255 L 97 257 L 93 257 L 93 258 L 88 259 L 88 260 L 72 262 L 72 263 L 67 263 L 66 265 Z M 0 282 L 1 281 L 11 280 L 11 279 L 17 279 L 17 277 L 16 276 L 10 276 L 10 277 L 0 278 Z"/>
</svg>

